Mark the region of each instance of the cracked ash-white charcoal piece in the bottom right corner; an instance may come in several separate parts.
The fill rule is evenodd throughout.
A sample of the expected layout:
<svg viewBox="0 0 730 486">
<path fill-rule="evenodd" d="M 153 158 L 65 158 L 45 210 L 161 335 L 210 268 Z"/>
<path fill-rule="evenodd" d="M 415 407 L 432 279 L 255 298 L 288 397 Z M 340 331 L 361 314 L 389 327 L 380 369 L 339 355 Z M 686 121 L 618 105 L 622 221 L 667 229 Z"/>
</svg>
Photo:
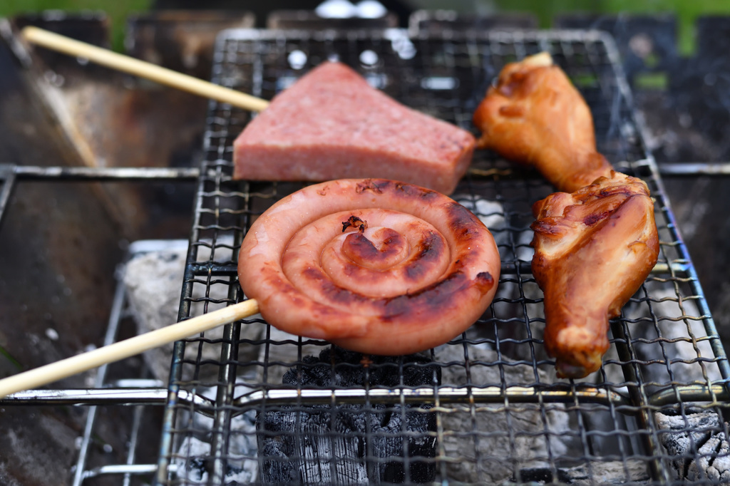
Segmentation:
<svg viewBox="0 0 730 486">
<path fill-rule="evenodd" d="M 718 484 L 730 483 L 730 444 L 715 412 L 685 412 L 683 415 L 654 414 L 661 445 L 672 461 L 675 479 Z"/>
</svg>

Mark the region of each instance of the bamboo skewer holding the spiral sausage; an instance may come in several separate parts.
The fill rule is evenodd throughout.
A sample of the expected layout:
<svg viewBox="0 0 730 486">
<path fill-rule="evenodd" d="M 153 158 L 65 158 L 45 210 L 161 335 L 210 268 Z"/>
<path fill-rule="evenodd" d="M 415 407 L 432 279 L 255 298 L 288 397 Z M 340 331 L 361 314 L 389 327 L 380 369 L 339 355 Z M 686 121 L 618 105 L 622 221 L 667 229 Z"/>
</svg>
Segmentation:
<svg viewBox="0 0 730 486">
<path fill-rule="evenodd" d="M 75 355 L 71 358 L 49 363 L 36 369 L 23 371 L 12 377 L 0 379 L 0 398 L 23 390 L 47 385 L 70 377 L 74 374 L 88 371 L 98 366 L 114 363 L 140 352 L 160 347 L 169 342 L 179 341 L 195 334 L 209 331 L 219 325 L 233 323 L 237 320 L 258 314 L 258 302 L 250 298 L 232 306 L 199 315 L 180 323 L 168 325 L 155 331 L 140 334 L 124 341 L 115 342 L 96 350 Z"/>
</svg>

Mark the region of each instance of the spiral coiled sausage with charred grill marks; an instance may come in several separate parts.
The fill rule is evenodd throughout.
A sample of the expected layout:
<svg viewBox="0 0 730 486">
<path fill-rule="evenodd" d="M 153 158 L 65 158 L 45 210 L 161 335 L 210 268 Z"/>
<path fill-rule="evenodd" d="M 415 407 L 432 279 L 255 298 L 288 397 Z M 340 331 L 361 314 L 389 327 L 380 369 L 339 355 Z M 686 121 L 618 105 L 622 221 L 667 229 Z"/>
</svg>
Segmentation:
<svg viewBox="0 0 730 486">
<path fill-rule="evenodd" d="M 366 179 L 310 185 L 277 201 L 251 225 L 238 270 L 245 294 L 275 327 L 400 355 L 475 323 L 494 296 L 500 263 L 491 233 L 461 204 Z"/>
</svg>

